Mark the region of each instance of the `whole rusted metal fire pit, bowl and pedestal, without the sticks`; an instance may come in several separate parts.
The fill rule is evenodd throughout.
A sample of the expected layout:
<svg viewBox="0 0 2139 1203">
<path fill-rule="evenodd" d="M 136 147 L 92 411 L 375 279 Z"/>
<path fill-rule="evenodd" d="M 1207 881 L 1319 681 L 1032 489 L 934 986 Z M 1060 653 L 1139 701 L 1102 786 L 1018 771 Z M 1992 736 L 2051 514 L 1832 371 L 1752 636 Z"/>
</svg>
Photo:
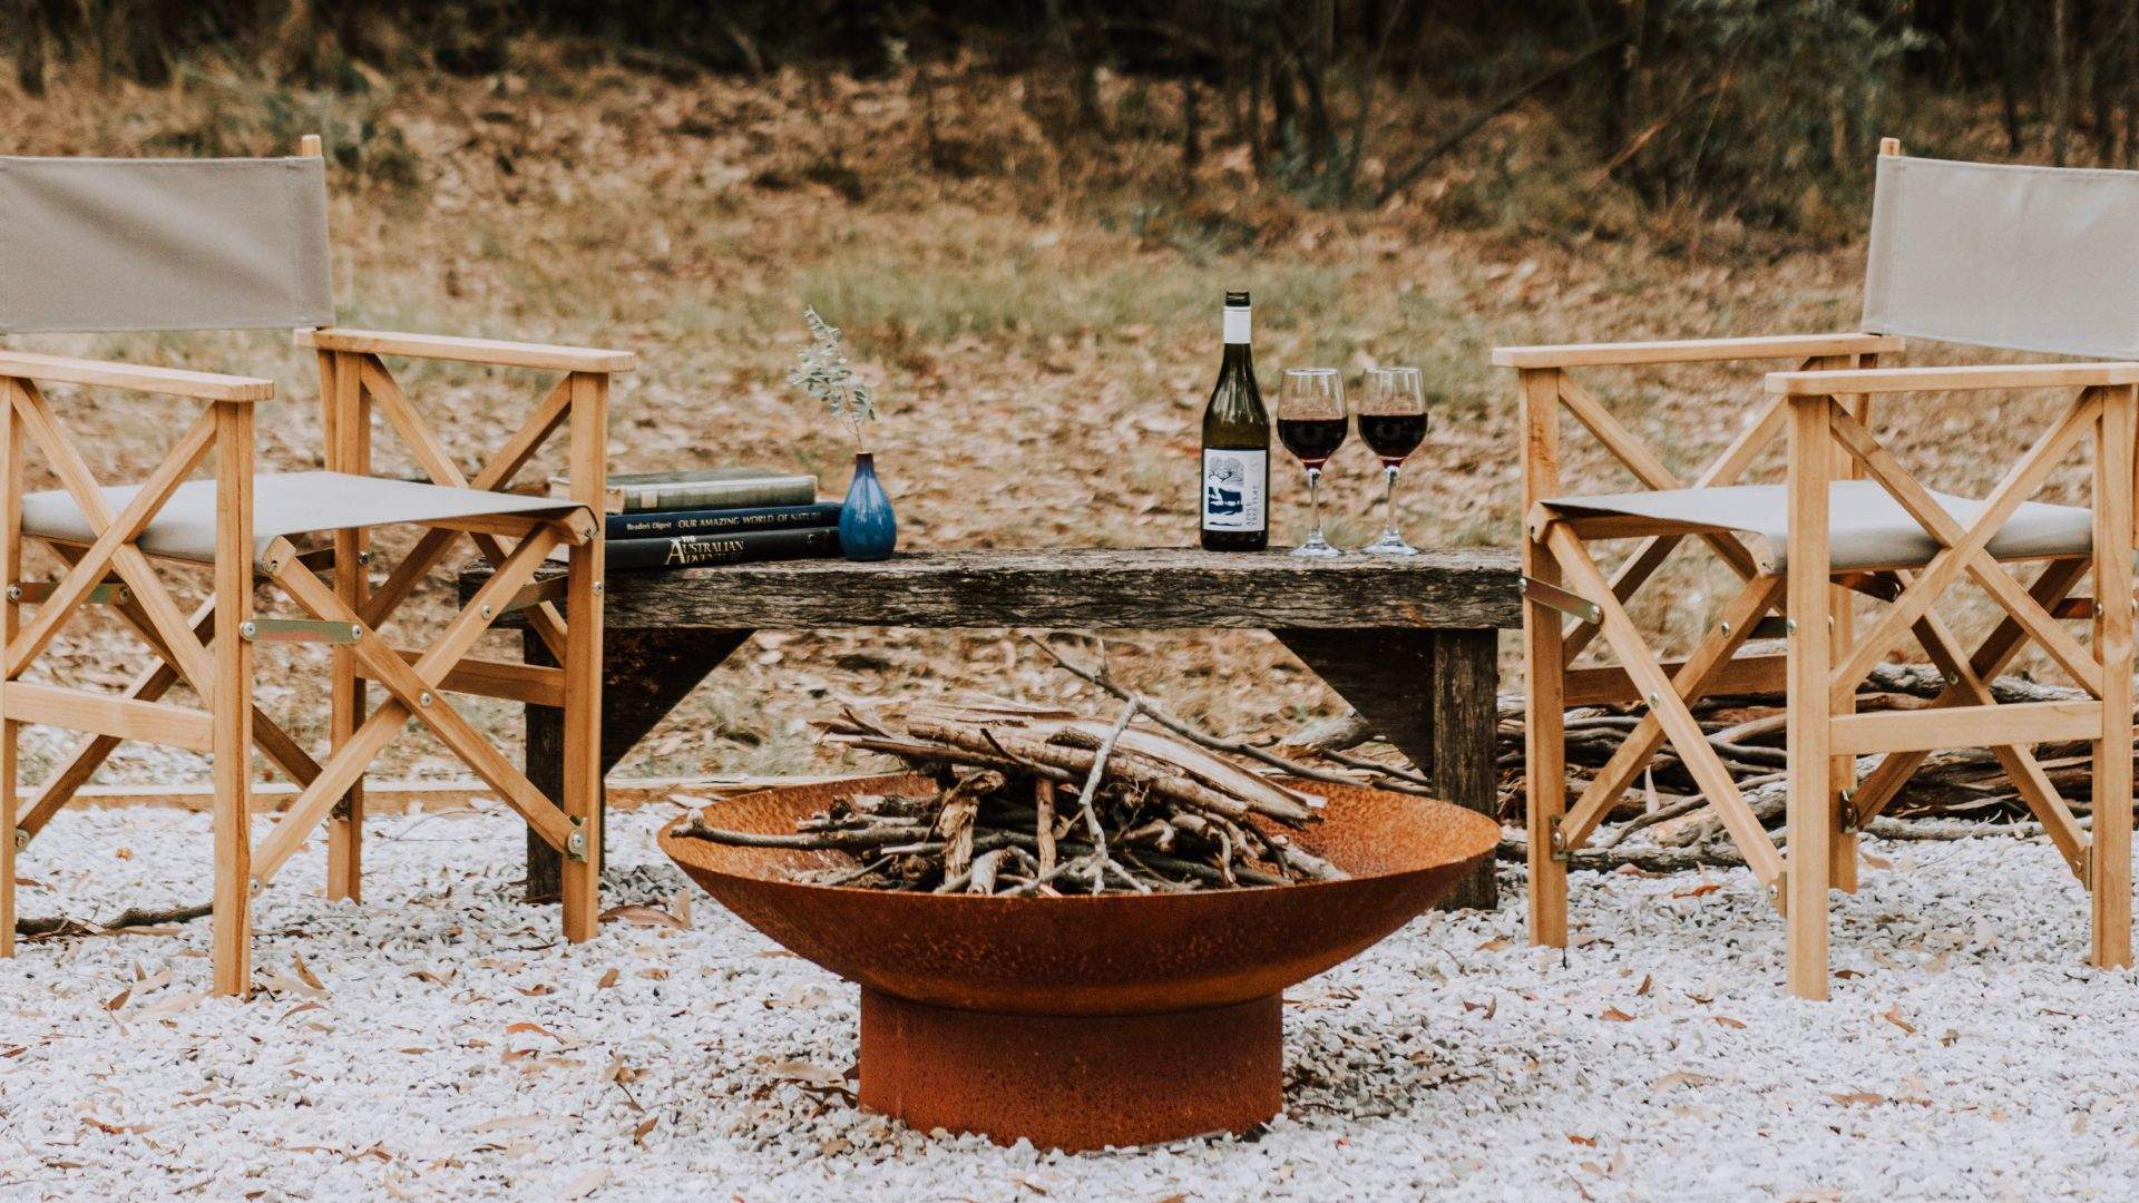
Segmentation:
<svg viewBox="0 0 2139 1203">
<path fill-rule="evenodd" d="M 1142 1145 L 1275 1115 L 1279 993 L 1403 927 L 1499 841 L 1499 824 L 1448 803 L 1292 783 L 1328 798 L 1298 843 L 1350 880 L 997 899 L 798 884 L 794 869 L 851 861 L 676 839 L 674 824 L 661 850 L 751 927 L 862 987 L 862 1107 L 1001 1143 Z M 924 788 L 898 775 L 766 790 L 706 818 L 787 833 L 838 794 Z"/>
</svg>

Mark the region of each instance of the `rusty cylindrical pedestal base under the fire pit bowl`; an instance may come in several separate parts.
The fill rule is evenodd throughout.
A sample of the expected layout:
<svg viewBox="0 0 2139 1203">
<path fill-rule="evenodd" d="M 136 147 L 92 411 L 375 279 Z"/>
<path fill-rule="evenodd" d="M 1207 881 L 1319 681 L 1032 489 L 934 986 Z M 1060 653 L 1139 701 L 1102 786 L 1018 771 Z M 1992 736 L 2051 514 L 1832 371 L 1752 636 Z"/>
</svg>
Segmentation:
<svg viewBox="0 0 2139 1203">
<path fill-rule="evenodd" d="M 1245 1132 L 1283 1105 L 1279 995 L 1157 1015 L 1010 1015 L 862 991 L 862 1107 L 922 1132 L 1097 1149 Z"/>
</svg>

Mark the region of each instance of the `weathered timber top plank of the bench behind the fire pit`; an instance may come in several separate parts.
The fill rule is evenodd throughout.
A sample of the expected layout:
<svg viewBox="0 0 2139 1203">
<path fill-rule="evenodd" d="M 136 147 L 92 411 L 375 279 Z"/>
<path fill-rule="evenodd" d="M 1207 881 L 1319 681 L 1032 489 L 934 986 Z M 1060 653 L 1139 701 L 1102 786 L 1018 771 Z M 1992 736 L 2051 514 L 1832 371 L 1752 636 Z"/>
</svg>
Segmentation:
<svg viewBox="0 0 2139 1203">
<path fill-rule="evenodd" d="M 471 567 L 464 593 L 488 576 Z M 558 569 L 560 572 L 560 569 Z M 1294 559 L 1187 548 L 1044 548 L 798 559 L 607 576 L 603 627 L 1517 627 L 1517 557 Z"/>
</svg>

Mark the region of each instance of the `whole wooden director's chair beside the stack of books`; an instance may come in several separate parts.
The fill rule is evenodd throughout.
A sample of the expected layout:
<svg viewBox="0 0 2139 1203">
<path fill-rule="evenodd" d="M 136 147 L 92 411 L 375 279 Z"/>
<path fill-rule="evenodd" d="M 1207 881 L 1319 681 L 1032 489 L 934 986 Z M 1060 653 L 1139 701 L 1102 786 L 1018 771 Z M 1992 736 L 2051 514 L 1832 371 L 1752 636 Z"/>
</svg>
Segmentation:
<svg viewBox="0 0 2139 1203">
<path fill-rule="evenodd" d="M 601 490 L 607 392 L 633 357 L 541 347 L 336 330 L 327 272 L 327 186 L 319 139 L 291 158 L 96 161 L 0 158 L 0 332 L 297 328 L 319 357 L 325 471 L 255 473 L 263 379 L 145 368 L 0 349 L 0 955 L 13 953 L 15 852 L 96 773 L 124 738 L 203 751 L 214 762 L 214 987 L 250 989 L 250 890 L 327 824 L 327 895 L 359 897 L 364 773 L 417 719 L 545 841 L 565 854 L 565 935 L 588 940 L 599 910 L 601 811 Z M 383 355 L 563 372 L 481 471 L 447 456 Z M 43 383 L 201 400 L 201 415 L 137 486 L 101 486 Z M 372 411 L 409 443 L 430 484 L 370 475 Z M 569 499 L 507 492 L 556 432 L 569 430 Z M 24 492 L 30 450 L 60 490 Z M 212 462 L 212 479 L 193 479 Z M 374 527 L 415 524 L 415 548 L 374 578 Z M 426 649 L 396 646 L 381 625 L 458 535 L 496 574 Z M 51 584 L 24 574 L 24 546 L 68 567 Z M 552 550 L 563 578 L 537 582 Z M 152 561 L 210 567 L 212 593 L 190 614 Z M 274 584 L 304 614 L 255 614 Z M 563 602 L 563 610 L 558 608 Z M 107 604 L 156 664 L 120 691 L 30 681 L 39 655 L 83 604 Z M 26 606 L 30 612 L 26 614 Z M 471 655 L 507 610 L 526 608 L 563 668 Z M 255 644 L 332 644 L 332 749 L 314 760 L 252 704 Z M 201 709 L 163 700 L 186 683 Z M 366 713 L 366 685 L 385 691 Z M 447 694 L 565 711 L 563 798 L 548 798 Z M 88 732 L 64 766 L 17 807 L 24 724 Z M 250 749 L 299 792 L 255 848 Z"/>
</svg>

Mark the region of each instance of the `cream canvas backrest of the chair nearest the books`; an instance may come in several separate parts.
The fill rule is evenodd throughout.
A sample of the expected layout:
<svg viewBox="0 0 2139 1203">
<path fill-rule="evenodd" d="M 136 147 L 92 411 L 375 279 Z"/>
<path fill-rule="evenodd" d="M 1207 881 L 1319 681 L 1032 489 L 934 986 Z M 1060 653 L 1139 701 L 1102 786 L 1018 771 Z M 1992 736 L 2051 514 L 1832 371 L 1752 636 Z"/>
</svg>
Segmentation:
<svg viewBox="0 0 2139 1203">
<path fill-rule="evenodd" d="M 0 156 L 0 334 L 332 323 L 323 158 Z"/>
</svg>

